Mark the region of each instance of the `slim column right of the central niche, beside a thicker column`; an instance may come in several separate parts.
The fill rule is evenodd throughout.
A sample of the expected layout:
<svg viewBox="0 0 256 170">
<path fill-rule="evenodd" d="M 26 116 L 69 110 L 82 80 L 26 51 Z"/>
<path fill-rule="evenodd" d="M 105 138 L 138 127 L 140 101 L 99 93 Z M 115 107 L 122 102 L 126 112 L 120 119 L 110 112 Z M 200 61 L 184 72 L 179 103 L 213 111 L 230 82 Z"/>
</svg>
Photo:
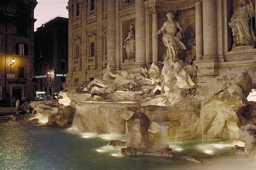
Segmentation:
<svg viewBox="0 0 256 170">
<path fill-rule="evenodd" d="M 203 4 L 201 0 L 196 1 L 196 60 L 203 59 L 204 55 L 203 41 Z"/>
</svg>

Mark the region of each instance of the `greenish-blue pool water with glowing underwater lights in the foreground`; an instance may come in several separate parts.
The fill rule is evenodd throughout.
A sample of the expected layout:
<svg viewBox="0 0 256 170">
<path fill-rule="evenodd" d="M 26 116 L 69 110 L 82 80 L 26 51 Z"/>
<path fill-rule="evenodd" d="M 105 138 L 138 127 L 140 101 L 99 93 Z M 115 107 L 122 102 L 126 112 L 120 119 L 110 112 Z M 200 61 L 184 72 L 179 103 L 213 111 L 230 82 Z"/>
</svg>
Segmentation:
<svg viewBox="0 0 256 170">
<path fill-rule="evenodd" d="M 123 156 L 119 154 L 120 148 L 106 146 L 108 140 L 87 137 L 83 133 L 70 132 L 67 127 L 0 124 L 0 169 L 211 169 L 211 164 L 212 167 L 217 165 L 179 159 Z M 198 141 L 170 145 L 174 151 L 175 148 L 183 148 L 187 152 L 194 152 Z M 176 152 L 180 152 L 179 149 Z M 200 152 L 198 150 L 196 154 Z M 248 165 L 248 162 L 251 165 L 252 162 L 250 159 L 239 161 L 239 165 Z"/>
</svg>

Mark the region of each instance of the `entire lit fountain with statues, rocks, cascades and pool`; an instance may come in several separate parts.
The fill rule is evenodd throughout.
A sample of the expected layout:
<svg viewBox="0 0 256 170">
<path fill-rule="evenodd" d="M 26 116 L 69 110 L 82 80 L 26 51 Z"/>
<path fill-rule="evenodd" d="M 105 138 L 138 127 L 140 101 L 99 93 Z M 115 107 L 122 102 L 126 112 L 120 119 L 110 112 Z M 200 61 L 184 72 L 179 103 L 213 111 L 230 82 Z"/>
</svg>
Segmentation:
<svg viewBox="0 0 256 170">
<path fill-rule="evenodd" d="M 244 1 L 228 22 L 232 48 L 255 45 L 250 22 L 239 16 L 248 17 L 246 12 L 254 15 L 251 1 Z M 176 15 L 177 10 L 166 12 L 165 22 L 152 37 L 162 37 L 161 60 L 140 67 L 136 76 L 117 72 L 108 63 L 101 78 L 78 87 L 67 81 L 61 99 L 31 102 L 35 115 L 2 123 L 0 129 L 11 126 L 7 131 L 15 134 L 17 145 L 12 146 L 8 132 L 0 130 L 1 137 L 6 136 L 1 139 L 5 144 L 0 146 L 0 165 L 4 169 L 10 164 L 25 169 L 255 169 L 256 91 L 251 72 L 240 69 L 198 83 L 196 42 L 190 40 L 189 49 L 184 45 Z M 137 50 L 136 27 L 127 26 L 124 62 L 134 60 Z M 17 152 L 16 160 L 8 158 L 12 150 Z"/>
</svg>

